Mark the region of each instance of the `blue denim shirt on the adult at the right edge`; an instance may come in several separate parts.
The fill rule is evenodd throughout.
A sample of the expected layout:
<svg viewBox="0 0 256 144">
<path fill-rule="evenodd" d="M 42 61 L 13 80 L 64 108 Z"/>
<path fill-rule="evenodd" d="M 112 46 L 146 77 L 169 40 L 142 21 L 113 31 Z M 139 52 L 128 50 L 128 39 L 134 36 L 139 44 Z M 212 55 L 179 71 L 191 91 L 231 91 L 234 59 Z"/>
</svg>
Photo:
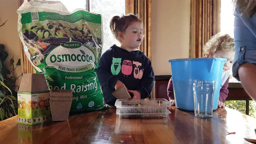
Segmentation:
<svg viewBox="0 0 256 144">
<path fill-rule="evenodd" d="M 239 66 L 244 63 L 256 64 L 256 14 L 250 18 L 246 14 L 240 15 L 235 9 L 234 15 L 235 58 L 232 72 L 234 78 L 240 81 Z"/>
</svg>

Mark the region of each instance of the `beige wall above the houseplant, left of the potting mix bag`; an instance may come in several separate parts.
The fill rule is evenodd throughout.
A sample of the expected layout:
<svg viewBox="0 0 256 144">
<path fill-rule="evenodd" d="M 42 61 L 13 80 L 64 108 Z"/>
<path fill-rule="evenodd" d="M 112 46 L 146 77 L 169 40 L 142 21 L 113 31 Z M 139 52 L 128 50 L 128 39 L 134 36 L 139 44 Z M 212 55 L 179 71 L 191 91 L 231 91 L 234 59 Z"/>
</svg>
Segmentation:
<svg viewBox="0 0 256 144">
<path fill-rule="evenodd" d="M 2 25 L 7 19 L 8 21 L 4 26 L 0 27 L 0 44 L 4 44 L 5 50 L 9 53 L 5 62 L 6 66 L 10 65 L 10 59 L 14 57 L 14 64 L 18 62 L 20 58 L 19 52 L 19 35 L 17 30 L 18 22 L 18 0 L 0 0 L 0 25 Z M 9 66 L 12 70 L 12 67 Z M 15 76 L 21 75 L 20 66 L 15 70 Z M 19 85 L 21 78 L 16 82 Z"/>
</svg>

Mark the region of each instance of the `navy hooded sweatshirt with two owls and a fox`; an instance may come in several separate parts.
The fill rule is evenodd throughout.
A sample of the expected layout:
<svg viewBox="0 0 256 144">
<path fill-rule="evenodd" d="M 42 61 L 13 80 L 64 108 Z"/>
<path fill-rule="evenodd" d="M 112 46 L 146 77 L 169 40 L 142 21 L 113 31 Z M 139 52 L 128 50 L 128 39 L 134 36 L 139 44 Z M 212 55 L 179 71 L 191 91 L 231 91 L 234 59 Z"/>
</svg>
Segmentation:
<svg viewBox="0 0 256 144">
<path fill-rule="evenodd" d="M 103 53 L 97 71 L 106 104 L 115 105 L 116 81 L 120 80 L 128 90 L 141 93 L 141 98 L 147 98 L 154 84 L 154 72 L 151 62 L 140 50 L 127 51 L 113 45 Z"/>
</svg>

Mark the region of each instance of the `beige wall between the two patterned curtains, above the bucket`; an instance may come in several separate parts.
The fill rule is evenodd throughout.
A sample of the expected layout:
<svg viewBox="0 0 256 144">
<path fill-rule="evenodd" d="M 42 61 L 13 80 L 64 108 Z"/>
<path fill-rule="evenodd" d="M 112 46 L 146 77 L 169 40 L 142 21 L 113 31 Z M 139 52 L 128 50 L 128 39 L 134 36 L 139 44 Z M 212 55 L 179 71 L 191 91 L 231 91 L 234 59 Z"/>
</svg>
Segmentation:
<svg viewBox="0 0 256 144">
<path fill-rule="evenodd" d="M 171 75 L 168 59 L 188 58 L 190 0 L 152 1 L 152 65 L 155 75 Z"/>
</svg>

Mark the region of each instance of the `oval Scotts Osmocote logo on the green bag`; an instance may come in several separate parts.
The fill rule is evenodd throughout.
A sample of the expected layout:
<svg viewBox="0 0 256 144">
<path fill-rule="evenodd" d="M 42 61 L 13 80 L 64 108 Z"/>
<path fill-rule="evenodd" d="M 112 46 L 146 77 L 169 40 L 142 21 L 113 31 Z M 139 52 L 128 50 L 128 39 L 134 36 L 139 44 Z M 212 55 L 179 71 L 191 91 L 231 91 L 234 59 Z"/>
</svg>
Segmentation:
<svg viewBox="0 0 256 144">
<path fill-rule="evenodd" d="M 72 49 L 72 50 L 70 50 Z M 62 43 L 45 58 L 48 66 L 64 72 L 84 72 L 93 68 L 94 54 L 79 42 Z"/>
</svg>

